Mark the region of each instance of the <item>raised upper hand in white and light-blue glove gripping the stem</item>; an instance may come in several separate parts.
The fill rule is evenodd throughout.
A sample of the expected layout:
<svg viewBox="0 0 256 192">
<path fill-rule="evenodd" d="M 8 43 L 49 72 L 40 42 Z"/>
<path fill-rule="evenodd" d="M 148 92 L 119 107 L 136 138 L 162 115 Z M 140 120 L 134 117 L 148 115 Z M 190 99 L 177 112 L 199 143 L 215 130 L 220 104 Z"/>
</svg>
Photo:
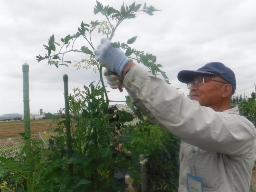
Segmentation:
<svg viewBox="0 0 256 192">
<path fill-rule="evenodd" d="M 97 49 L 94 49 L 96 61 L 122 77 L 124 66 L 132 59 L 125 56 L 120 49 L 112 47 L 112 42 L 107 38 L 102 38 L 100 43 Z"/>
</svg>

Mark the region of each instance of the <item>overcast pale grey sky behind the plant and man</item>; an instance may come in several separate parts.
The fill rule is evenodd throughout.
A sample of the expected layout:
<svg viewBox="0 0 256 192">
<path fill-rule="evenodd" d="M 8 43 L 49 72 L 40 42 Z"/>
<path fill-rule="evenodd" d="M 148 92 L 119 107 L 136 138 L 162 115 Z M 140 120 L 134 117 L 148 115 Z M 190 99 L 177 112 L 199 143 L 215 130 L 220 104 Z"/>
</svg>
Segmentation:
<svg viewBox="0 0 256 192">
<path fill-rule="evenodd" d="M 100 0 L 104 5 L 120 9 L 120 0 Z M 133 0 L 124 0 L 131 4 Z M 138 0 L 136 3 L 144 4 Z M 256 1 L 255 0 L 147 0 L 162 11 L 154 16 L 139 13 L 124 21 L 112 41 L 126 42 L 138 36 L 134 46 L 157 57 L 170 82 L 188 94 L 186 85 L 178 82 L 180 70 L 196 70 L 208 62 L 223 62 L 236 74 L 236 94 L 250 96 L 256 82 Z M 94 0 L 0 0 L 0 115 L 23 114 L 22 64 L 30 65 L 30 112 L 57 112 L 64 107 L 63 74 L 69 76 L 69 90 L 82 88 L 99 80 L 92 70 L 74 67 L 75 60 L 87 55 L 66 54 L 72 64 L 49 66 L 43 44 L 54 34 L 60 42 L 77 32 L 80 23 L 104 20 L 94 15 Z M 94 46 L 102 35 L 94 34 Z M 75 48 L 88 46 L 82 38 Z M 109 89 L 109 88 L 108 88 Z M 110 90 L 110 89 L 109 89 Z M 126 92 L 110 90 L 111 100 L 125 100 Z"/>
</svg>

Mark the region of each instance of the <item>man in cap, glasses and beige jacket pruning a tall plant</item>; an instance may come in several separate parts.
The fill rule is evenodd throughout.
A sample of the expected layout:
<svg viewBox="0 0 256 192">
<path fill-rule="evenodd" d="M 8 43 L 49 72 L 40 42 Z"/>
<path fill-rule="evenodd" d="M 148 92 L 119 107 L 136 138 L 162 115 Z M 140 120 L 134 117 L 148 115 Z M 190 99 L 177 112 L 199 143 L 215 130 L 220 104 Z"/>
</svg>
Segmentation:
<svg viewBox="0 0 256 192">
<path fill-rule="evenodd" d="M 256 158 L 254 125 L 231 108 L 236 90 L 234 72 L 222 63 L 196 71 L 183 70 L 189 97 L 134 64 L 102 39 L 96 60 L 124 78 L 126 90 L 142 113 L 181 140 L 179 192 L 249 192 Z M 104 73 L 111 88 L 118 78 Z"/>
</svg>

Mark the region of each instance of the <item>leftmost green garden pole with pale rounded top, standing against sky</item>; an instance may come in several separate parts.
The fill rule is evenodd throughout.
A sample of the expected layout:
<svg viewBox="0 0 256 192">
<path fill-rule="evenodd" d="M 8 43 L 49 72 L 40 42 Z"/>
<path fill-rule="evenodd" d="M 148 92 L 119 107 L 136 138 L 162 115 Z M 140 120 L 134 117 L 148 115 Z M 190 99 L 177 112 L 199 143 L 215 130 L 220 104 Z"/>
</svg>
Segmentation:
<svg viewBox="0 0 256 192">
<path fill-rule="evenodd" d="M 29 110 L 29 83 L 28 83 L 28 72 L 29 65 L 24 63 L 22 65 L 23 72 L 23 110 L 24 110 L 24 132 L 25 136 L 30 138 L 30 110 Z M 32 153 L 28 144 L 25 148 L 26 162 L 30 162 L 32 159 Z"/>
</svg>

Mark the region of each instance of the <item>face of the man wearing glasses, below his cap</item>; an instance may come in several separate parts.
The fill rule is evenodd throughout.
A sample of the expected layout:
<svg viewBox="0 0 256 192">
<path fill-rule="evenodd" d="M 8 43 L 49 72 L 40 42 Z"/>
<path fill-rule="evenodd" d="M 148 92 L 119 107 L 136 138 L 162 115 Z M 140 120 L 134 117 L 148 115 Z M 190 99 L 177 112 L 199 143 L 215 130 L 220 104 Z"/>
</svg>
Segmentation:
<svg viewBox="0 0 256 192">
<path fill-rule="evenodd" d="M 193 84 L 193 86 L 190 87 L 189 98 L 191 100 L 198 101 L 201 106 L 207 106 L 214 109 L 215 106 L 219 105 L 222 101 L 221 88 L 224 83 L 227 82 L 219 76 L 209 75 L 200 75 L 194 78 L 194 80 L 202 77 L 208 77 L 209 79 L 204 79 L 204 83 L 198 86 L 196 84 Z M 216 82 L 210 79 L 218 80 L 220 82 Z"/>
</svg>

